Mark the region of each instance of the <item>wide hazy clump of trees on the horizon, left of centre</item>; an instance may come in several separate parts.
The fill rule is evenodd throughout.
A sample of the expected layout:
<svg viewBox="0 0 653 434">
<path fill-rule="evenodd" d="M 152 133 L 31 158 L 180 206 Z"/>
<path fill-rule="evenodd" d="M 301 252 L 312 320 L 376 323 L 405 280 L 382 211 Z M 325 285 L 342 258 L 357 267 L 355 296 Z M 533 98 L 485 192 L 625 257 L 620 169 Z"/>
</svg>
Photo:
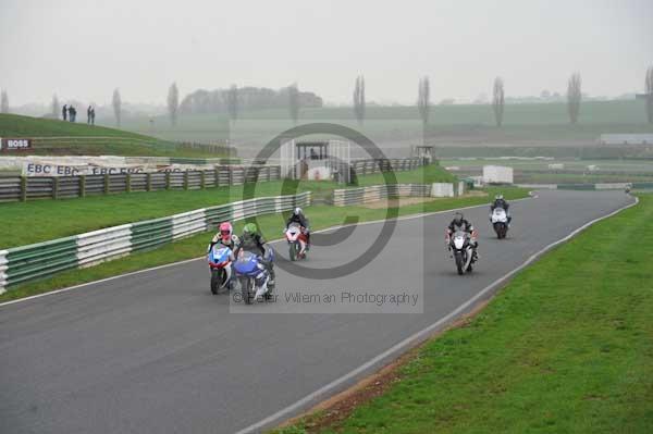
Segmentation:
<svg viewBox="0 0 653 434">
<path fill-rule="evenodd" d="M 292 107 L 301 108 L 321 108 L 323 104 L 321 97 L 310 91 L 300 91 L 295 85 L 280 90 L 232 86 L 230 89 L 196 90 L 182 100 L 178 112 L 181 114 L 227 113 L 234 119 L 237 111 L 287 109 L 288 101 Z M 234 108 L 237 108 L 235 112 Z"/>
</svg>

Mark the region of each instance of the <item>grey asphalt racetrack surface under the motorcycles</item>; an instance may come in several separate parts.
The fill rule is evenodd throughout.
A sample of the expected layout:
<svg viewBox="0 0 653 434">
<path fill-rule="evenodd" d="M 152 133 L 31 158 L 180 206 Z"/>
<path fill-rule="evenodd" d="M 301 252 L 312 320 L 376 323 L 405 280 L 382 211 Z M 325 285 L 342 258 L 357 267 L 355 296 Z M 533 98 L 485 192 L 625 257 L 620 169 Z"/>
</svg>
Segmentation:
<svg viewBox="0 0 653 434">
<path fill-rule="evenodd" d="M 276 303 L 243 308 L 229 295 L 212 296 L 206 263 L 197 260 L 0 306 L 0 433 L 236 432 L 435 323 L 547 245 L 632 200 L 621 191 L 540 191 L 512 204 L 505 240 L 493 236 L 486 207 L 465 210 L 480 231 L 481 260 L 464 276 L 444 249 L 452 211 L 399 220 L 381 253 L 346 276 L 316 281 L 278 269 Z M 343 245 L 316 246 L 305 265 L 353 260 L 380 227 L 359 225 Z M 287 256 L 283 244 L 274 247 Z M 285 302 L 284 294 L 303 290 L 408 292 L 419 302 Z M 294 313 L 303 309 L 311 313 Z M 379 313 L 401 309 L 417 313 Z"/>
</svg>

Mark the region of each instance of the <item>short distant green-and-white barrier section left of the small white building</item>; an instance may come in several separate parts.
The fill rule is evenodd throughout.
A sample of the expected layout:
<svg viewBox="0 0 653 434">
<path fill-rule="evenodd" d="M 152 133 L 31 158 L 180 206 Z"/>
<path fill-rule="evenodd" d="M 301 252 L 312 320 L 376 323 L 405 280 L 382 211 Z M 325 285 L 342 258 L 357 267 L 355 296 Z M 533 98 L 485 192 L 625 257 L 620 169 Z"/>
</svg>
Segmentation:
<svg viewBox="0 0 653 434">
<path fill-rule="evenodd" d="M 333 190 L 332 203 L 336 207 L 369 203 L 386 198 L 414 197 L 454 197 L 464 194 L 464 186 L 447 183 L 435 184 L 387 184 L 360 188 Z"/>
</svg>

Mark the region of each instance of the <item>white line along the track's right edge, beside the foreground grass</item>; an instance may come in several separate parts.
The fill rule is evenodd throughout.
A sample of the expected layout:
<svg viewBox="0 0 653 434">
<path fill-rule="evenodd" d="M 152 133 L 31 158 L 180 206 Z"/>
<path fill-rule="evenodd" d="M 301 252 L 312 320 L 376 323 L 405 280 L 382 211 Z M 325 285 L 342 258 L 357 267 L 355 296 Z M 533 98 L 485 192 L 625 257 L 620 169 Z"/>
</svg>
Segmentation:
<svg viewBox="0 0 653 434">
<path fill-rule="evenodd" d="M 538 252 L 535 252 L 531 257 L 529 257 L 521 265 L 509 271 L 508 273 L 504 274 L 502 277 L 492 282 L 490 285 L 485 286 L 483 289 L 481 289 L 480 293 L 477 293 L 469 300 L 467 300 L 463 305 L 458 306 L 455 310 L 449 312 L 446 317 L 438 320 L 433 324 L 429 325 L 426 328 L 422 328 L 421 331 L 412 334 L 411 336 L 408 336 L 404 340 L 399 342 L 398 344 L 396 344 L 393 347 L 389 348 L 387 350 L 383 351 L 382 354 L 374 357 L 373 359 L 367 361 L 366 363 L 361 364 L 360 367 L 356 368 L 355 370 L 346 373 L 345 375 L 341 376 L 340 379 L 336 379 L 336 380 L 332 381 L 331 383 L 320 387 L 316 392 L 305 396 L 304 398 L 299 399 L 298 401 L 291 404 L 289 406 L 279 410 L 278 412 L 267 417 L 266 419 L 260 420 L 259 422 L 256 422 L 247 427 L 244 427 L 243 430 L 237 431 L 236 434 L 257 433 L 263 429 L 272 427 L 273 425 L 279 424 L 283 420 L 291 417 L 295 411 L 300 410 L 305 407 L 308 407 L 311 402 L 315 402 L 315 404 L 320 402 L 321 400 L 325 399 L 329 395 L 331 395 L 332 393 L 337 390 L 341 386 L 343 386 L 347 382 L 356 379 L 358 375 L 365 373 L 368 370 L 372 370 L 374 368 L 380 368 L 380 365 L 382 364 L 382 362 L 384 360 L 387 360 L 391 357 L 395 358 L 399 354 L 403 354 L 407 349 L 426 340 L 433 332 L 438 331 L 438 328 L 440 328 L 442 325 L 444 325 L 444 324 L 448 323 L 451 320 L 455 319 L 458 314 L 460 314 L 466 309 L 468 309 L 472 303 L 475 303 L 479 298 L 483 297 L 491 290 L 496 289 L 500 285 L 504 284 L 513 275 L 517 274 L 518 272 L 523 270 L 526 266 L 530 265 L 533 261 L 535 261 L 538 258 L 540 258 L 542 255 L 544 255 L 549 250 L 574 238 L 580 232 L 587 230 L 589 226 L 593 225 L 594 223 L 600 222 L 605 219 L 609 219 L 611 216 L 613 216 L 628 208 L 634 207 L 638 203 L 639 203 L 639 198 L 636 196 L 634 202 L 624 206 L 624 207 L 611 212 L 609 214 L 594 219 L 594 220 L 583 224 L 582 226 L 578 227 L 577 230 L 572 231 L 569 235 L 565 236 L 564 238 L 560 238 L 557 241 L 554 241 L 554 243 L 545 246 L 544 248 L 542 248 L 541 250 L 539 250 Z"/>
</svg>

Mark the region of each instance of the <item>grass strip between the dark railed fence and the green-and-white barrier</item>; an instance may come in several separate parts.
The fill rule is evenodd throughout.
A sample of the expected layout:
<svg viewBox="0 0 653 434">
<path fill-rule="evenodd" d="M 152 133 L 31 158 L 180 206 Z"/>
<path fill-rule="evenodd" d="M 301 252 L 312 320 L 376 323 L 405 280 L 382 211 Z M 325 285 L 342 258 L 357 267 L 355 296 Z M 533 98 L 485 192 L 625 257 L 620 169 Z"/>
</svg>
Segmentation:
<svg viewBox="0 0 653 434">
<path fill-rule="evenodd" d="M 395 175 L 398 183 L 455 179 L 438 165 L 396 172 Z M 359 184 L 383 184 L 383 176 L 381 174 L 360 176 Z M 334 188 L 342 188 L 342 186 L 331 182 L 271 182 L 257 184 L 255 194 L 264 197 L 313 191 L 315 197 L 323 198 L 328 197 Z M 243 186 L 232 186 L 205 190 L 161 190 L 0 203 L 0 221 L 29 222 L 21 225 L 0 225 L 0 249 L 243 200 Z"/>
</svg>

